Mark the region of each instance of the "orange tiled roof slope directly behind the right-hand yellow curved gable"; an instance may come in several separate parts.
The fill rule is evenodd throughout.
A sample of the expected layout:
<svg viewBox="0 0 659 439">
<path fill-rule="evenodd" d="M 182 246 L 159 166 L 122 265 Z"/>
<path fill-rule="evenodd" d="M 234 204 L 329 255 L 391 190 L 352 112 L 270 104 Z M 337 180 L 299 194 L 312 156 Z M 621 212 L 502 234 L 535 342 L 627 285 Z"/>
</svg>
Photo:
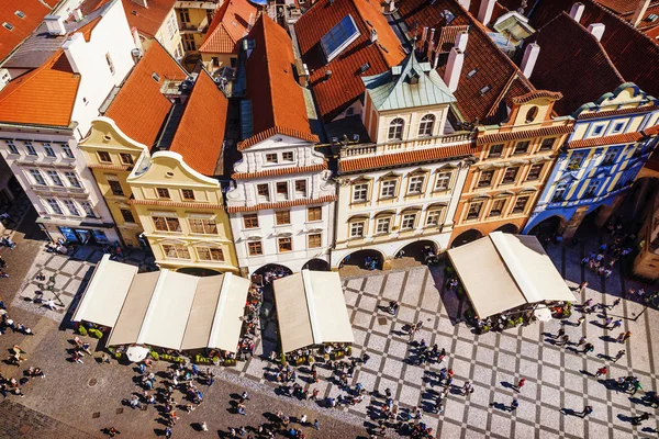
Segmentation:
<svg viewBox="0 0 659 439">
<path fill-rule="evenodd" d="M 214 176 L 222 158 L 228 100 L 205 70 L 201 70 L 186 103 L 170 151 L 204 176 Z"/>
</svg>

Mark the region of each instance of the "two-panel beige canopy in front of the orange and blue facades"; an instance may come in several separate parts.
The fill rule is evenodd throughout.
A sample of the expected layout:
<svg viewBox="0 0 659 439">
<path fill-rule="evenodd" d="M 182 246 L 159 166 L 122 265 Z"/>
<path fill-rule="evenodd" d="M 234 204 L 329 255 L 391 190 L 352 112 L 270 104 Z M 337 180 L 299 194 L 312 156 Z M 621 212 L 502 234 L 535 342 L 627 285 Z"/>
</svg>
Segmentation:
<svg viewBox="0 0 659 439">
<path fill-rule="evenodd" d="M 574 301 L 535 236 L 493 232 L 448 257 L 480 318 L 528 303 Z"/>
</svg>

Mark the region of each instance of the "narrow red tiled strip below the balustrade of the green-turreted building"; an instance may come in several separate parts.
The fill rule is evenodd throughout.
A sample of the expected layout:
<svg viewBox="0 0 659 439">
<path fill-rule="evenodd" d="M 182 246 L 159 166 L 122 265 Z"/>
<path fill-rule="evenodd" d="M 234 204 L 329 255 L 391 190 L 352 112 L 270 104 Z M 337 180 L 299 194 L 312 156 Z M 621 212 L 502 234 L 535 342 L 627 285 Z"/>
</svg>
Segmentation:
<svg viewBox="0 0 659 439">
<path fill-rule="evenodd" d="M 379 169 L 392 166 L 407 164 L 421 164 L 424 161 L 435 161 L 443 158 L 460 157 L 473 154 L 476 147 L 472 143 L 454 146 L 443 146 L 437 148 L 417 149 L 405 153 L 383 154 L 373 157 L 364 157 L 355 159 L 340 159 L 338 167 L 343 173 L 362 171 L 366 169 Z"/>
</svg>

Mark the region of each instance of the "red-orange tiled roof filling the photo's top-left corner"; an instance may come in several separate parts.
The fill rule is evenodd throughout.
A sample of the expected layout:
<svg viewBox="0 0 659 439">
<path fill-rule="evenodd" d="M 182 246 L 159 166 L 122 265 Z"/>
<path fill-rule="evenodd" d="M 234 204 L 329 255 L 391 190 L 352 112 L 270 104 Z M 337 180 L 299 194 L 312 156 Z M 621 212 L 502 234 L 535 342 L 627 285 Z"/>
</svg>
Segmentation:
<svg viewBox="0 0 659 439">
<path fill-rule="evenodd" d="M 51 1 L 51 3 L 57 2 Z M 25 16 L 19 18 L 16 11 L 23 12 Z M 51 8 L 38 0 L 0 1 L 0 23 L 9 23 L 13 26 L 10 31 L 0 25 L 0 60 L 29 37 L 49 13 Z"/>
</svg>

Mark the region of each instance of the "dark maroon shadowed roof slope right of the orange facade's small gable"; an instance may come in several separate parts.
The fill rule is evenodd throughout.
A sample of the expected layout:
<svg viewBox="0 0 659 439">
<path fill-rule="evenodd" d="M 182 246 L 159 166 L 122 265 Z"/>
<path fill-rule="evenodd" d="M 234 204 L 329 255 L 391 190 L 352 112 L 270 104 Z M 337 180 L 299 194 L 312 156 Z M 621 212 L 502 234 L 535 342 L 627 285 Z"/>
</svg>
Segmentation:
<svg viewBox="0 0 659 439">
<path fill-rule="evenodd" d="M 625 82 L 597 38 L 565 12 L 539 30 L 536 43 L 540 53 L 533 82 L 563 94 L 554 104 L 558 114 L 572 114 Z"/>
</svg>

